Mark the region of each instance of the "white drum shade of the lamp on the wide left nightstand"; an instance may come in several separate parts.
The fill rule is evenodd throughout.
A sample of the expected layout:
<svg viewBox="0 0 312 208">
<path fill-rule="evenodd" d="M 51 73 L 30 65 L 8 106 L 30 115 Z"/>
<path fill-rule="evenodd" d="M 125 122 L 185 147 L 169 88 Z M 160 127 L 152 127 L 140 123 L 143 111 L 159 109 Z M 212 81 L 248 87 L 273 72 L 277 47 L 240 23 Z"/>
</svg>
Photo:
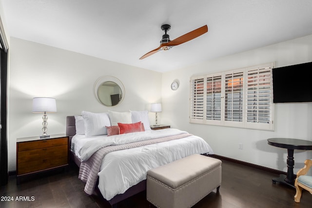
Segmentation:
<svg viewBox="0 0 312 208">
<path fill-rule="evenodd" d="M 57 112 L 57 102 L 52 97 L 34 97 L 33 113 Z"/>
</svg>

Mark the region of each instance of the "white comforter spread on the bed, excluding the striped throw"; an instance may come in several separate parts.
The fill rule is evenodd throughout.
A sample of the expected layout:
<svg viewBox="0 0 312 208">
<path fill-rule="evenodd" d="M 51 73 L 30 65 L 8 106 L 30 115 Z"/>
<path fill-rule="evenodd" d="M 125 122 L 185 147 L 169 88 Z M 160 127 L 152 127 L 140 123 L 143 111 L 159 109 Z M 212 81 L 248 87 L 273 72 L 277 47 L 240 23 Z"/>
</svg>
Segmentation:
<svg viewBox="0 0 312 208">
<path fill-rule="evenodd" d="M 79 152 L 82 160 L 107 145 L 118 145 L 152 138 L 185 133 L 176 129 L 135 132 L 116 136 L 73 137 L 72 151 Z M 75 141 L 76 140 L 76 141 Z M 81 142 L 84 140 L 83 142 Z M 77 142 L 78 141 L 78 142 Z M 78 145 L 75 145 L 75 142 Z M 80 143 L 79 143 L 80 142 Z M 76 148 L 73 149 L 73 146 Z M 98 188 L 106 200 L 124 193 L 130 187 L 146 179 L 147 170 L 165 165 L 195 153 L 213 154 L 211 147 L 200 137 L 192 135 L 182 139 L 162 142 L 132 149 L 108 153 L 101 164 Z"/>
</svg>

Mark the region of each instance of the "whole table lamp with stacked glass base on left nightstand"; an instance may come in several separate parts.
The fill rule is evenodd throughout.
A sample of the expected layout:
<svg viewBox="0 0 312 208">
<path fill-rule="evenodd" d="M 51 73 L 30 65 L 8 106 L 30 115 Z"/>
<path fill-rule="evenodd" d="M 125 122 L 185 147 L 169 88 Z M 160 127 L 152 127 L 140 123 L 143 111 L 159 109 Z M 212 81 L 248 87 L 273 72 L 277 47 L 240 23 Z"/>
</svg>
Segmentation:
<svg viewBox="0 0 312 208">
<path fill-rule="evenodd" d="M 42 116 L 42 132 L 40 138 L 49 137 L 47 134 L 48 116 L 46 113 L 56 113 L 57 104 L 55 98 L 52 97 L 34 97 L 33 98 L 33 113 L 43 113 Z"/>
</svg>

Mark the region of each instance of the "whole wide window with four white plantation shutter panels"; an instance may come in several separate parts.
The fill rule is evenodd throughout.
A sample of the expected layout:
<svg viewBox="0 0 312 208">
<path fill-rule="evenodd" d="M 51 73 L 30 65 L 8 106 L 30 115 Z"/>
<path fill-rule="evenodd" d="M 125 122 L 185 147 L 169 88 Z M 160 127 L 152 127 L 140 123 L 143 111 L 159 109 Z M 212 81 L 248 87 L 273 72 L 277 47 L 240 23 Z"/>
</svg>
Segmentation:
<svg viewBox="0 0 312 208">
<path fill-rule="evenodd" d="M 273 130 L 273 63 L 190 80 L 190 122 Z"/>
</svg>

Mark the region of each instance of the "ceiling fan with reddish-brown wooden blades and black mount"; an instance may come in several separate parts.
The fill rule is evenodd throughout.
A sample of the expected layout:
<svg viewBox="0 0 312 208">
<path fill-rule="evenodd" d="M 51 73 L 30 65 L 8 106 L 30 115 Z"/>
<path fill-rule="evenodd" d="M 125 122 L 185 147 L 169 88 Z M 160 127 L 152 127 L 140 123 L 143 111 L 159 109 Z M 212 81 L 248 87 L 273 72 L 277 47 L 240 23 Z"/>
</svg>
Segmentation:
<svg viewBox="0 0 312 208">
<path fill-rule="evenodd" d="M 208 32 L 208 27 L 207 25 L 202 26 L 200 28 L 197 28 L 187 34 L 184 34 L 183 36 L 180 36 L 174 40 L 170 40 L 169 39 L 169 35 L 167 34 L 167 32 L 170 30 L 171 26 L 169 24 L 163 24 L 161 25 L 161 29 L 163 31 L 165 31 L 165 34 L 162 35 L 162 39 L 160 40 L 160 46 L 150 52 L 148 52 L 147 54 L 143 55 L 142 57 L 140 57 L 139 59 L 143 59 L 146 57 L 149 57 L 153 54 L 155 54 L 156 52 L 162 50 L 162 51 L 168 51 L 169 49 L 171 49 L 172 47 L 176 46 L 176 45 L 180 45 L 182 43 L 185 43 L 189 40 L 192 40 L 194 38 L 197 38 L 198 36 L 203 35 L 204 33 Z"/>
</svg>

